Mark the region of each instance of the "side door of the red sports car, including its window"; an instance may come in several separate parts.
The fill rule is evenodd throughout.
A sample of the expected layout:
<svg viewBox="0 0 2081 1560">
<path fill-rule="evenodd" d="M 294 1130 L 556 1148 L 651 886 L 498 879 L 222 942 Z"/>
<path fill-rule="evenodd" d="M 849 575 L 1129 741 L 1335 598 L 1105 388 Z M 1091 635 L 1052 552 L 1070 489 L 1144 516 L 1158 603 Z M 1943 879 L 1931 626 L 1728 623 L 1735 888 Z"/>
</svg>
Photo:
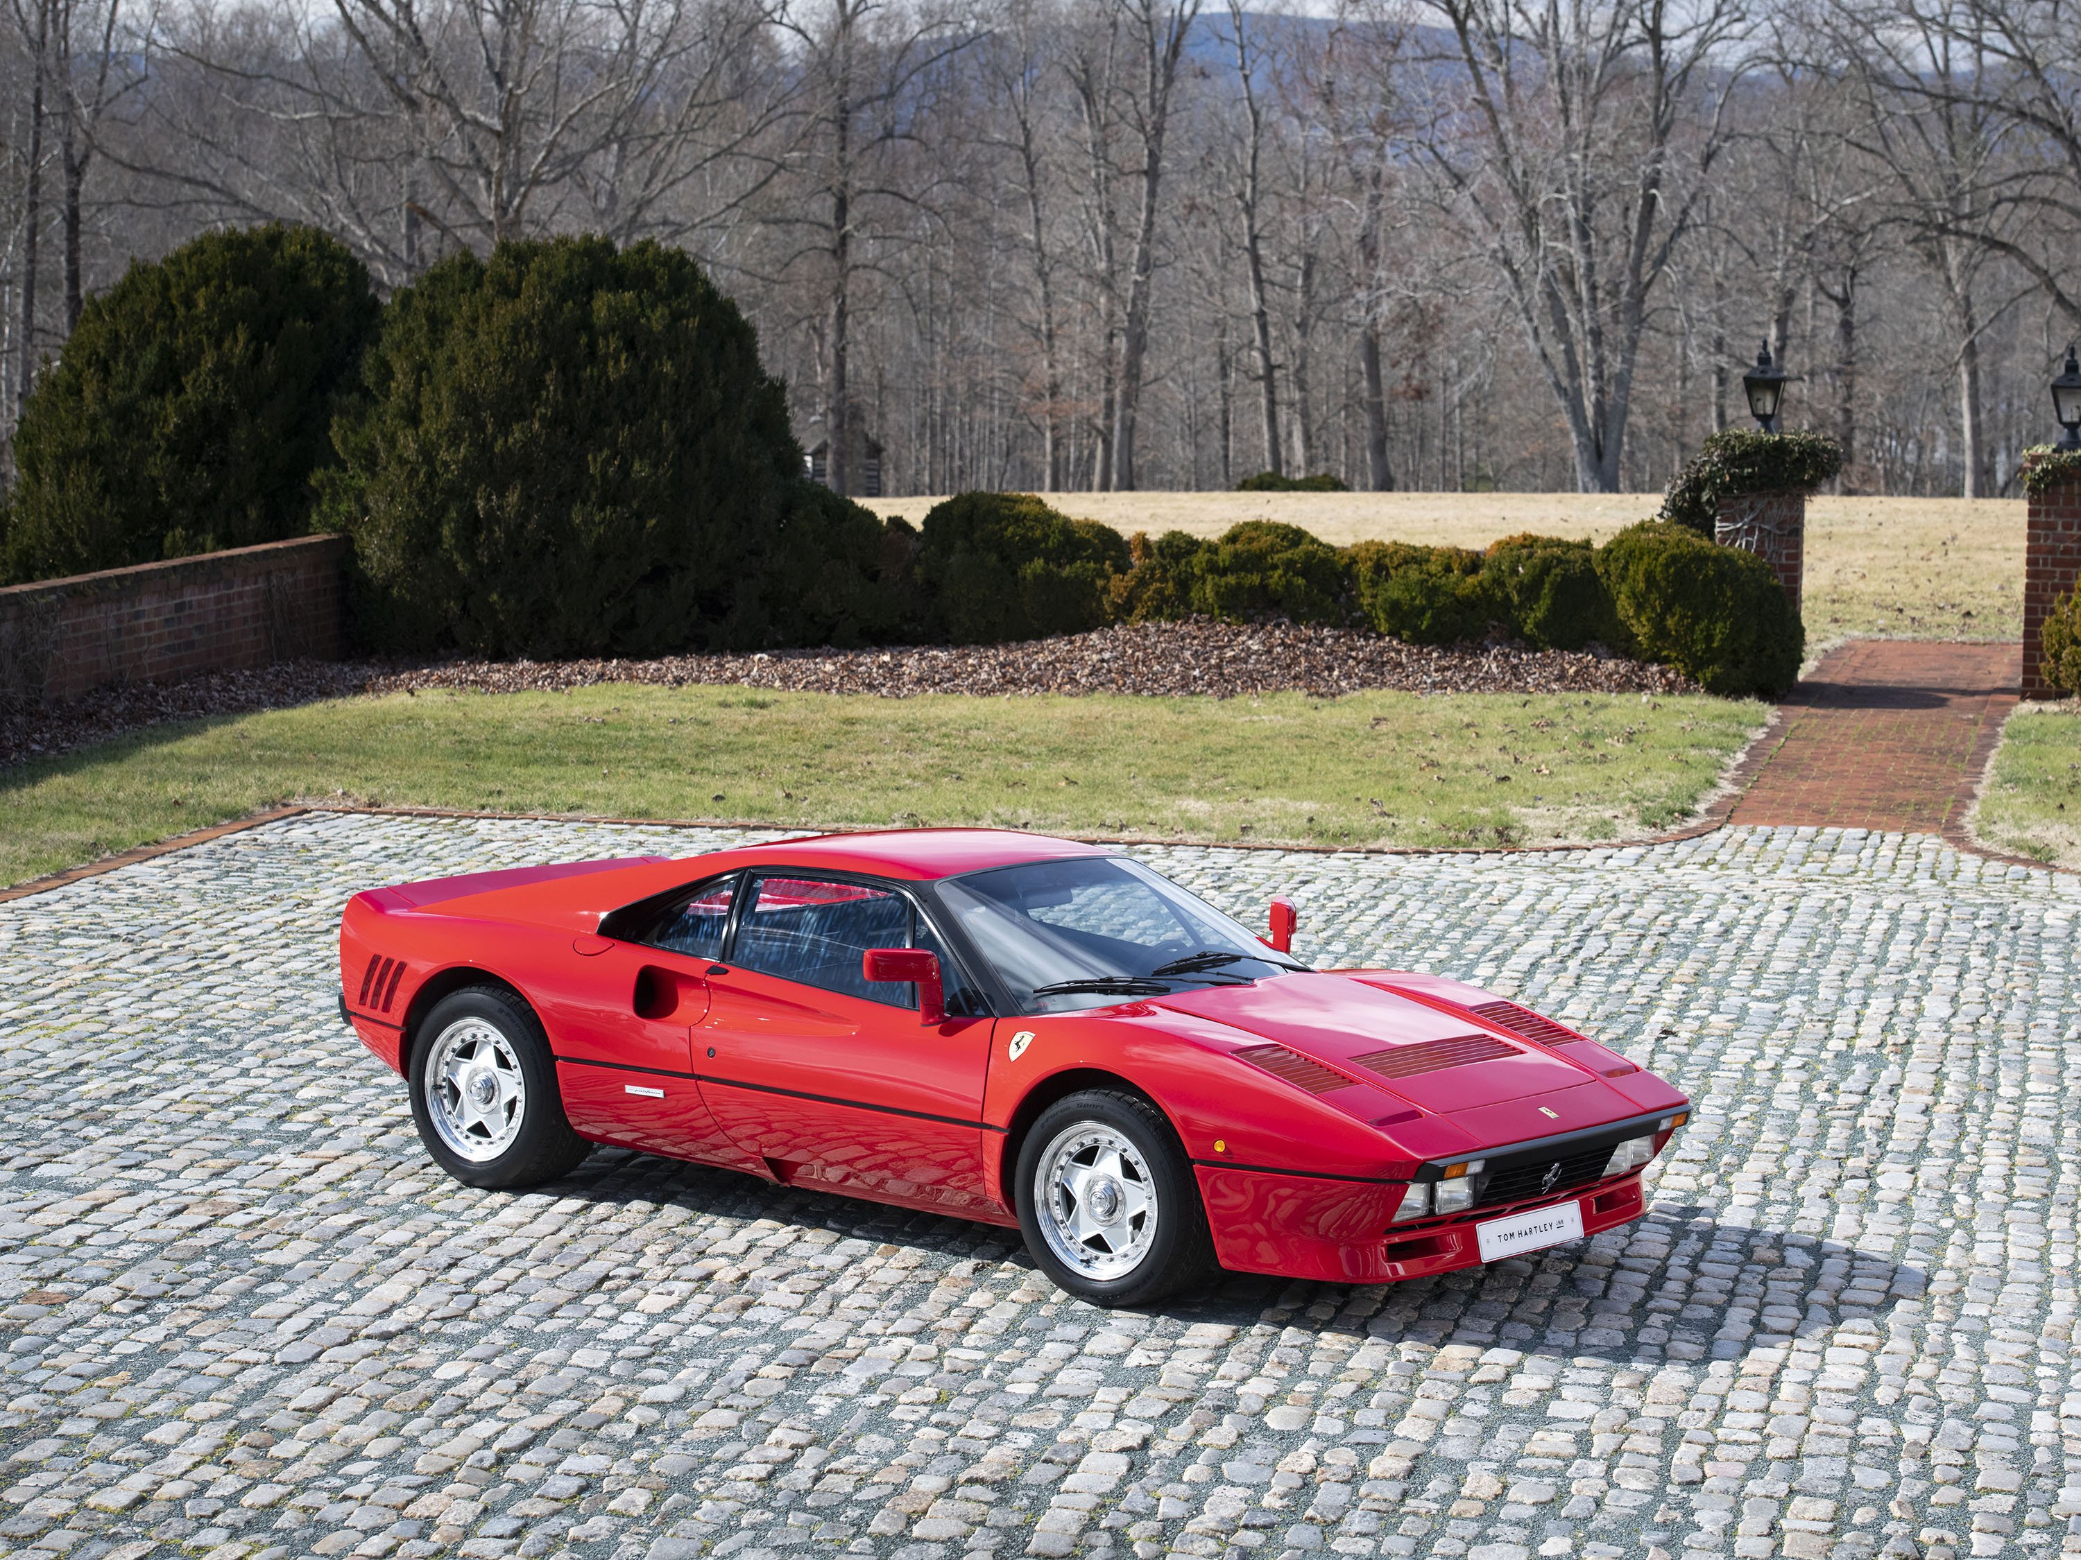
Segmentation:
<svg viewBox="0 0 2081 1560">
<path fill-rule="evenodd" d="M 918 905 L 893 884 L 766 872 L 743 888 L 726 971 L 695 1025 L 701 1094 L 782 1181 L 951 1213 L 988 1204 L 982 1077 L 991 1019 Z M 945 1023 L 909 986 L 868 982 L 868 948 L 924 946 Z"/>
</svg>

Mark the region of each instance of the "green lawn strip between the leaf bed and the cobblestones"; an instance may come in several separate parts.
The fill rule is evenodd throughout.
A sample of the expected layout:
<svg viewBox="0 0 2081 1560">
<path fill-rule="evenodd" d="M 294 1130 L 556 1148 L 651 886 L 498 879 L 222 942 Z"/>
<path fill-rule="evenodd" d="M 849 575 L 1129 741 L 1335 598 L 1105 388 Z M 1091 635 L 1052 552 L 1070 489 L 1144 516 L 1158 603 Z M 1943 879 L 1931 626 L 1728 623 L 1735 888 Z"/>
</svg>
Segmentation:
<svg viewBox="0 0 2081 1560">
<path fill-rule="evenodd" d="M 1663 828 L 1765 718 L 1729 699 L 874 699 L 749 688 L 389 695 L 0 772 L 0 882 L 281 801 L 787 828 L 1005 824 L 1309 844 Z"/>
</svg>

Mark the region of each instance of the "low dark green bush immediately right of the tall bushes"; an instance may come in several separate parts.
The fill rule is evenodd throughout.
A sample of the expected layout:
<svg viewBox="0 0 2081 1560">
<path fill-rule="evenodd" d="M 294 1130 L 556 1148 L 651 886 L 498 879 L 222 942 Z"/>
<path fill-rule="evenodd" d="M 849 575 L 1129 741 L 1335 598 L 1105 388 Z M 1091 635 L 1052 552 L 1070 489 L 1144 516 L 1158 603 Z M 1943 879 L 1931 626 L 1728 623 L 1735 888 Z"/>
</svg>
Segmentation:
<svg viewBox="0 0 2081 1560">
<path fill-rule="evenodd" d="M 955 645 L 1097 628 L 1126 568 L 1117 530 L 1032 493 L 957 493 L 926 514 L 918 547 L 928 626 Z"/>
</svg>

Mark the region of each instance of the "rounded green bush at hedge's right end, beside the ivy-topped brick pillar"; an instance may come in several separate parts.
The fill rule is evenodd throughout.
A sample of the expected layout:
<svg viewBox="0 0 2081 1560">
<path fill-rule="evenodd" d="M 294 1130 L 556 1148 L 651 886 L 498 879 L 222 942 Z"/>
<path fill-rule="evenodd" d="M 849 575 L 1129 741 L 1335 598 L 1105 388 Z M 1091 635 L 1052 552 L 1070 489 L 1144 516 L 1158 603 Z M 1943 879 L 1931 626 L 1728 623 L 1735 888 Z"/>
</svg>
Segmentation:
<svg viewBox="0 0 2081 1560">
<path fill-rule="evenodd" d="M 1646 520 L 1596 551 L 1596 572 L 1644 659 L 1729 697 L 1783 693 L 1798 678 L 1806 630 L 1754 553 Z"/>
</svg>

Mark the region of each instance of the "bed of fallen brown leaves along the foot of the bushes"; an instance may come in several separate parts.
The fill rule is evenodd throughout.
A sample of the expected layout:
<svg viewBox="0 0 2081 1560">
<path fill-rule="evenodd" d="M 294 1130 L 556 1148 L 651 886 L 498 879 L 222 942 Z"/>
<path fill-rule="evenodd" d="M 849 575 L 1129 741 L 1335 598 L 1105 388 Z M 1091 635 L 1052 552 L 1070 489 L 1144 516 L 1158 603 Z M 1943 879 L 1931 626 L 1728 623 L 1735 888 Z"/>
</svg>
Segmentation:
<svg viewBox="0 0 2081 1560">
<path fill-rule="evenodd" d="M 1696 693 L 1667 666 L 1521 645 L 1403 645 L 1346 628 L 1209 620 L 1099 628 L 1022 645 L 924 645 L 760 655 L 668 655 L 656 661 L 283 661 L 181 682 L 100 688 L 81 699 L 0 713 L 0 765 L 166 720 L 281 709 L 354 693 L 524 693 L 597 682 L 743 684 L 789 693 L 1032 695 L 1253 693 Z"/>
</svg>

